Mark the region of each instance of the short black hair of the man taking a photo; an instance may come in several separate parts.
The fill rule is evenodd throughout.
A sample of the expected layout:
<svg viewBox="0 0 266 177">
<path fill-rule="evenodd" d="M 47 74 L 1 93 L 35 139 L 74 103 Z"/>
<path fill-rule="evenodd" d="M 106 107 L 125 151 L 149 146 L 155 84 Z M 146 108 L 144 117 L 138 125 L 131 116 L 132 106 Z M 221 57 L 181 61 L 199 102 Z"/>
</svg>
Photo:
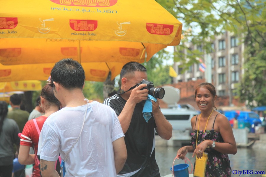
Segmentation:
<svg viewBox="0 0 266 177">
<path fill-rule="evenodd" d="M 135 71 L 147 72 L 147 69 L 140 63 L 131 61 L 126 63 L 120 72 L 120 79 L 122 79 L 128 73 L 134 73 Z"/>
</svg>

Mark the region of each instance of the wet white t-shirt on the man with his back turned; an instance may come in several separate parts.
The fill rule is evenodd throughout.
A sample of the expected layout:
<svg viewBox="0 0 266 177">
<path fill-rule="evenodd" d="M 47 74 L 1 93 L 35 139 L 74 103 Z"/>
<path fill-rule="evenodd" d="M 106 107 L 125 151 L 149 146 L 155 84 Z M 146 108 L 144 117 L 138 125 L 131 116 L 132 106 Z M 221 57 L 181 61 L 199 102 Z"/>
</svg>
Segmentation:
<svg viewBox="0 0 266 177">
<path fill-rule="evenodd" d="M 65 160 L 65 177 L 116 176 L 112 142 L 121 137 L 124 133 L 120 122 L 109 106 L 93 101 L 88 105 L 65 107 L 45 121 L 40 133 L 38 155 L 40 159 L 56 161 L 60 153 Z"/>
</svg>

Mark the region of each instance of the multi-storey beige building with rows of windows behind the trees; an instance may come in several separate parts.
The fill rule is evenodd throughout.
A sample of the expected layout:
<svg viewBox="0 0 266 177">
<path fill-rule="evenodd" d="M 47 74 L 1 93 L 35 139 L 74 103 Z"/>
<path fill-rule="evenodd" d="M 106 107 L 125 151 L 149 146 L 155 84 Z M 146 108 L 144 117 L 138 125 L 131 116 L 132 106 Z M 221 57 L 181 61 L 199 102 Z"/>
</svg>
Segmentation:
<svg viewBox="0 0 266 177">
<path fill-rule="evenodd" d="M 220 106 L 243 106 L 244 104 L 239 103 L 235 96 L 237 94 L 236 87 L 244 74 L 244 44 L 239 43 L 238 38 L 233 33 L 224 32 L 215 36 L 212 41 L 212 52 L 208 55 L 201 46 L 191 43 L 185 45 L 188 49 L 181 52 L 186 58 L 188 55 L 186 50 L 197 49 L 205 54 L 202 55 L 202 58 L 198 58 L 202 63 L 191 65 L 184 73 L 182 73 L 182 63 L 174 63 L 174 69 L 178 73 L 178 76 L 173 80 L 174 85 L 198 80 L 211 82 L 216 88 L 217 95 L 223 99 Z M 195 83 L 198 84 L 198 82 Z M 189 96 L 191 95 L 181 95 L 181 98 Z"/>
</svg>

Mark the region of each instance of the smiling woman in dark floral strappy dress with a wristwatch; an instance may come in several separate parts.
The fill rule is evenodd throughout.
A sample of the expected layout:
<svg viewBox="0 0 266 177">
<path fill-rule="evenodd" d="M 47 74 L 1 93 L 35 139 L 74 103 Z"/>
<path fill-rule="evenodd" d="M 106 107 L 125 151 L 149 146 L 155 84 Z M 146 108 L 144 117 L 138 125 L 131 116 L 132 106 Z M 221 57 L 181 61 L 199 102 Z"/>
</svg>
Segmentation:
<svg viewBox="0 0 266 177">
<path fill-rule="evenodd" d="M 232 170 L 228 154 L 236 154 L 236 140 L 228 119 L 220 114 L 216 107 L 215 87 L 211 83 L 201 83 L 195 90 L 195 101 L 201 113 L 191 119 L 194 130 L 191 133 L 190 146 L 184 146 L 177 152 L 178 158 L 193 153 L 201 158 L 208 153 L 205 176 L 231 176 Z M 195 166 L 195 165 L 194 165 Z"/>
</svg>

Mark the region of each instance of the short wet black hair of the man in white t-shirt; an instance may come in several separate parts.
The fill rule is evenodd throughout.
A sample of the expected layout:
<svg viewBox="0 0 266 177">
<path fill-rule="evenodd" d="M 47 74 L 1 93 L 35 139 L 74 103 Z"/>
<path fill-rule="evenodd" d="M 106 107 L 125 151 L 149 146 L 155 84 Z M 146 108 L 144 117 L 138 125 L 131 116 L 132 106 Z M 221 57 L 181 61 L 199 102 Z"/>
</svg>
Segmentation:
<svg viewBox="0 0 266 177">
<path fill-rule="evenodd" d="M 85 81 L 85 71 L 81 64 L 71 58 L 57 62 L 51 71 L 51 83 L 63 86 L 65 89 L 82 89 Z"/>
</svg>

